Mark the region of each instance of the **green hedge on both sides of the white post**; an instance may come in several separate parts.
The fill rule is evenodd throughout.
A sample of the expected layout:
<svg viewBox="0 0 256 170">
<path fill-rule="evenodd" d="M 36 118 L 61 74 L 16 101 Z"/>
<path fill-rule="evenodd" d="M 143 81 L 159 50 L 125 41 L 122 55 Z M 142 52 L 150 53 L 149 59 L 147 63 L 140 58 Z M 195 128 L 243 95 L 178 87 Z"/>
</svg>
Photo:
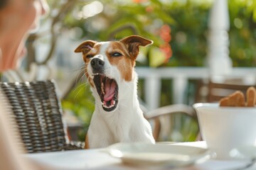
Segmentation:
<svg viewBox="0 0 256 170">
<path fill-rule="evenodd" d="M 256 3 L 255 1 L 228 1 L 230 13 L 230 57 L 234 67 L 253 67 L 256 64 Z M 185 12 L 186 11 L 186 12 Z M 173 57 L 166 66 L 203 66 L 207 56 L 209 4 L 193 1 L 171 4 L 170 16 Z"/>
</svg>

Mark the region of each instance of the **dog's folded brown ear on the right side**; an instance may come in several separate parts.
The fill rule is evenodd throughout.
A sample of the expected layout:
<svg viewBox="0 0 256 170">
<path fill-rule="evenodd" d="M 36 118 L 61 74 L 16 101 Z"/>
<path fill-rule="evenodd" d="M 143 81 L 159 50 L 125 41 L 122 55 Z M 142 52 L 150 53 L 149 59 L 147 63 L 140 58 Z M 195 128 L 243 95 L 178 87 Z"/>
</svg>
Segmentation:
<svg viewBox="0 0 256 170">
<path fill-rule="evenodd" d="M 131 35 L 127 38 L 120 40 L 120 42 L 124 43 L 132 56 L 137 57 L 139 54 L 139 46 L 151 45 L 153 43 L 152 40 L 148 40 L 139 35 Z"/>
</svg>

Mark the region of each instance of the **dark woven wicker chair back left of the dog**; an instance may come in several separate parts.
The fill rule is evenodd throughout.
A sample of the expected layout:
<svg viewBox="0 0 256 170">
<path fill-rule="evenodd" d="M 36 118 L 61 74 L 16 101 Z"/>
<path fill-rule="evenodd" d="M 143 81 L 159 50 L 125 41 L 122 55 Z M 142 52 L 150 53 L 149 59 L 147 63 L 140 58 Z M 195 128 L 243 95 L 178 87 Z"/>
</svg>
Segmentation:
<svg viewBox="0 0 256 170">
<path fill-rule="evenodd" d="M 68 140 L 54 81 L 0 82 L 28 153 L 82 149 Z"/>
</svg>

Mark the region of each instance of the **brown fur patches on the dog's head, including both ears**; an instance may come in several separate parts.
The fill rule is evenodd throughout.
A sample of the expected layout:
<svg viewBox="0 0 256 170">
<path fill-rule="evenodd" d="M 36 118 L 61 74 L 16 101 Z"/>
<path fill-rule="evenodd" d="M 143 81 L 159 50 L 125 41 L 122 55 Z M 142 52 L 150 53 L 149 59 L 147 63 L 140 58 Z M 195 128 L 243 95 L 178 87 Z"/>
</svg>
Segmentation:
<svg viewBox="0 0 256 170">
<path fill-rule="evenodd" d="M 142 38 L 138 35 L 131 35 L 120 41 L 110 42 L 105 55 L 107 55 L 110 64 L 115 65 L 125 81 L 131 81 L 133 75 L 133 67 L 139 55 L 139 46 L 146 46 L 152 44 L 153 41 Z M 90 57 L 100 53 L 102 44 L 92 40 L 82 42 L 75 52 L 82 52 L 82 58 L 85 61 L 85 67 L 90 62 Z M 90 85 L 93 86 L 93 81 L 89 75 L 85 73 Z"/>
</svg>

